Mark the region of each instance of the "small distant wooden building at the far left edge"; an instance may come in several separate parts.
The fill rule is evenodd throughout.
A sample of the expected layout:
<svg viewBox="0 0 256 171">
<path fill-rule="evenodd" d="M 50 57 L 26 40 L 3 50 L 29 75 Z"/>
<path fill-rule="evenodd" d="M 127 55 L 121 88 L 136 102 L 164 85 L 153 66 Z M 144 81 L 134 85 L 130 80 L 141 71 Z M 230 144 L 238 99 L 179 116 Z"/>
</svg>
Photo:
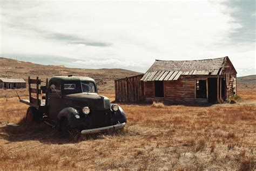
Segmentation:
<svg viewBox="0 0 256 171">
<path fill-rule="evenodd" d="M 0 88 L 26 88 L 26 81 L 20 78 L 0 78 Z"/>
</svg>

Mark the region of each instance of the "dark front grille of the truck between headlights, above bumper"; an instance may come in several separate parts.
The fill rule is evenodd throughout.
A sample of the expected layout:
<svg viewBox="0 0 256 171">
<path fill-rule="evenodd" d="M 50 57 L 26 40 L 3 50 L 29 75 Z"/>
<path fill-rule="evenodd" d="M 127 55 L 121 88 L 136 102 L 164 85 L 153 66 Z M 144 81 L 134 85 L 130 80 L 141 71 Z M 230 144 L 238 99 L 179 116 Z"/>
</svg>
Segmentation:
<svg viewBox="0 0 256 171">
<path fill-rule="evenodd" d="M 111 111 L 93 110 L 93 125 L 95 127 L 110 126 L 111 124 Z"/>
</svg>

